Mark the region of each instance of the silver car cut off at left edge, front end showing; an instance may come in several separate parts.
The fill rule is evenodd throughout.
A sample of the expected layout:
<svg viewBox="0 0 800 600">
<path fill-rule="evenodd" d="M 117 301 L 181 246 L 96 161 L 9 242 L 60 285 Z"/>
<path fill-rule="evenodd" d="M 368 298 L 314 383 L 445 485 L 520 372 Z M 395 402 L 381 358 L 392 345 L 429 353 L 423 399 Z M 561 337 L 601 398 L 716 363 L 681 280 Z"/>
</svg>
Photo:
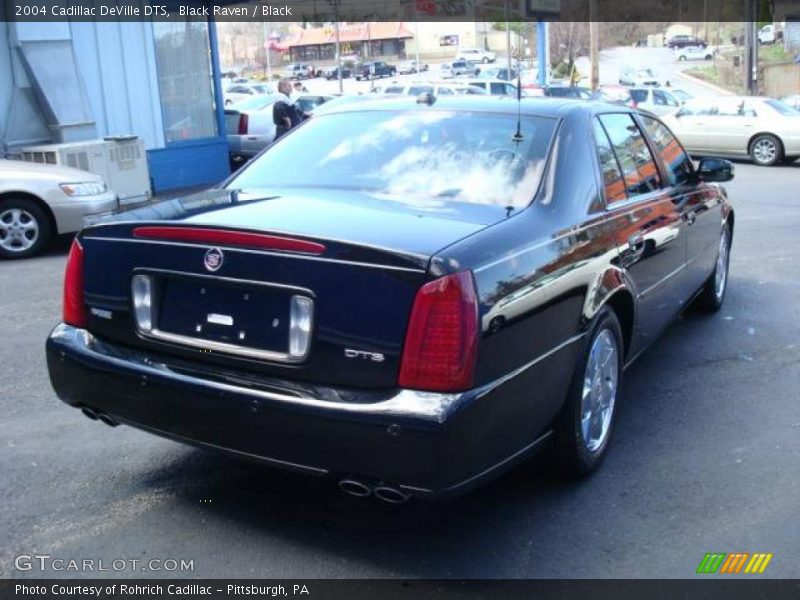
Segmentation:
<svg viewBox="0 0 800 600">
<path fill-rule="evenodd" d="M 71 167 L 0 159 L 0 257 L 28 258 L 87 218 L 119 208 L 99 175 Z M 10 292 L 9 292 L 10 293 Z"/>
</svg>

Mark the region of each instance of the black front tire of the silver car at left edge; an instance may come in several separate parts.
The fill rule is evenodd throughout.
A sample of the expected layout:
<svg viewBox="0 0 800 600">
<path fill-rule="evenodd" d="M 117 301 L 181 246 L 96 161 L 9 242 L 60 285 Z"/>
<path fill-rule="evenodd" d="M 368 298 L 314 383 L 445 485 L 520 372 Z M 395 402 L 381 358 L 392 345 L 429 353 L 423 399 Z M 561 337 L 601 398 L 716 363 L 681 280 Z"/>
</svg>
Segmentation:
<svg viewBox="0 0 800 600">
<path fill-rule="evenodd" d="M 14 212 L 20 211 L 20 212 Z M 32 230 L 21 231 L 19 226 L 26 226 L 33 222 L 35 235 Z M 33 239 L 27 247 L 26 242 L 11 241 L 9 236 L 24 235 Z M 50 241 L 52 228 L 50 219 L 44 209 L 33 200 L 27 198 L 8 198 L 0 200 L 0 256 L 3 258 L 29 258 L 38 254 Z M 6 243 L 6 240 L 9 240 Z"/>
</svg>

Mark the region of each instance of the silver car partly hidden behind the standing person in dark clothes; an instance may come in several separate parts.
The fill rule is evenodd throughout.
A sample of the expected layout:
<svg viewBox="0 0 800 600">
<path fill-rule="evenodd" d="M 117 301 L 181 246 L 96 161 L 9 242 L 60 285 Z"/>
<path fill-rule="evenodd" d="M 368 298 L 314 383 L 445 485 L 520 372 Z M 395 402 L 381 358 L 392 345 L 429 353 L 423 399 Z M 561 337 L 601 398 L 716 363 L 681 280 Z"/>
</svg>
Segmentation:
<svg viewBox="0 0 800 600">
<path fill-rule="evenodd" d="M 270 94 L 225 109 L 225 133 L 232 167 L 238 167 L 273 142 L 275 123 L 272 108 L 281 98 Z M 295 98 L 295 106 L 301 113 L 310 114 L 331 98 L 330 95 L 300 94 Z"/>
</svg>

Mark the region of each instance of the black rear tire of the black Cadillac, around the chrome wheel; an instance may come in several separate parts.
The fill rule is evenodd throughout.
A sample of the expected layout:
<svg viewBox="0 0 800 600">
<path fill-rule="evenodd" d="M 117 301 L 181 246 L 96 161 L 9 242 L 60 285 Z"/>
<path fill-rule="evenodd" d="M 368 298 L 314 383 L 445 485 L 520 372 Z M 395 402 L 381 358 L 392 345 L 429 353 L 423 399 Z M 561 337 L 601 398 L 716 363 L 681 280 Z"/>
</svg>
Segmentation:
<svg viewBox="0 0 800 600">
<path fill-rule="evenodd" d="M 584 387 L 587 366 L 595 350 L 595 343 L 601 338 L 604 342 L 613 340 L 616 349 L 616 386 L 611 401 L 608 424 L 600 439 L 587 441 L 583 432 Z M 569 478 L 585 477 L 596 470 L 603 462 L 614 432 L 616 414 L 619 407 L 619 390 L 622 383 L 622 366 L 625 346 L 622 328 L 617 315 L 608 307 L 603 308 L 594 318 L 588 335 L 584 338 L 580 360 L 572 376 L 567 399 L 554 423 L 555 452 L 558 471 Z M 610 357 L 609 357 L 610 360 Z M 597 442 L 596 447 L 591 447 Z"/>
</svg>

